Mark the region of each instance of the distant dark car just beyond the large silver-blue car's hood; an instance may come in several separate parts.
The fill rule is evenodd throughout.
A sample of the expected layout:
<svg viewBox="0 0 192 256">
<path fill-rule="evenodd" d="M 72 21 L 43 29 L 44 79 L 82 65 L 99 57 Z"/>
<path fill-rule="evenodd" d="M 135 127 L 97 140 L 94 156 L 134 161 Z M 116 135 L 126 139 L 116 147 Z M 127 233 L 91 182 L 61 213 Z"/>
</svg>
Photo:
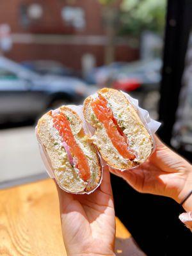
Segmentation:
<svg viewBox="0 0 192 256">
<path fill-rule="evenodd" d="M 80 74 L 72 68 L 65 67 L 59 61 L 54 60 L 34 60 L 22 61 L 21 64 L 31 71 L 40 75 L 50 74 L 56 76 L 73 76 L 79 77 Z"/>
</svg>

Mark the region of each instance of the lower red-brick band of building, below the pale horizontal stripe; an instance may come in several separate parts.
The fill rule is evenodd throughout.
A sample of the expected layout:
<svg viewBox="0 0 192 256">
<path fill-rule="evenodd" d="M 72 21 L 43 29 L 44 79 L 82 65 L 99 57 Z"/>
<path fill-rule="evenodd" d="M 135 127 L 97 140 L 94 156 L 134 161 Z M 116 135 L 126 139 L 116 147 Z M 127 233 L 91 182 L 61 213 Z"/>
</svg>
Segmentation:
<svg viewBox="0 0 192 256">
<path fill-rule="evenodd" d="M 16 61 L 24 60 L 58 60 L 67 67 L 81 70 L 81 57 L 92 53 L 97 66 L 104 64 L 104 47 L 100 45 L 31 45 L 15 44 L 6 56 Z M 116 61 L 138 59 L 138 50 L 118 46 L 115 51 Z"/>
</svg>

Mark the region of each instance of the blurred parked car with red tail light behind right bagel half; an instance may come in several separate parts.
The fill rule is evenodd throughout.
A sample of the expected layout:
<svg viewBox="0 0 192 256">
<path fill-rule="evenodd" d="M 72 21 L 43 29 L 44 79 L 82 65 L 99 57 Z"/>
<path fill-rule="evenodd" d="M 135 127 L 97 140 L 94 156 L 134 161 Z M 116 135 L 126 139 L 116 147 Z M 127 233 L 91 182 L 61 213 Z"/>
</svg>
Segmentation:
<svg viewBox="0 0 192 256">
<path fill-rule="evenodd" d="M 150 111 L 153 118 L 157 118 L 161 65 L 158 58 L 131 63 L 115 62 L 94 68 L 86 81 L 128 92 L 139 100 L 142 108 Z"/>
</svg>

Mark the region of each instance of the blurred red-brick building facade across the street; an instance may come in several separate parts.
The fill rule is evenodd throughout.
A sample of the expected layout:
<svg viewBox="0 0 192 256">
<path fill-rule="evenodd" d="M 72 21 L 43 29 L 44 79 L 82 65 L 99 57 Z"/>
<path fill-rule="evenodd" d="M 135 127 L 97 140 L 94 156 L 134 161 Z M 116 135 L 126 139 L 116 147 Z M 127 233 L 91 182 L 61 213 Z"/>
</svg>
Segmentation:
<svg viewBox="0 0 192 256">
<path fill-rule="evenodd" d="M 12 35 L 12 48 L 3 54 L 15 61 L 58 60 L 77 70 L 84 54 L 92 54 L 96 65 L 103 65 L 108 45 L 104 18 L 97 0 L 2 0 L 0 26 L 8 24 Z M 138 45 L 129 38 L 116 37 L 114 45 L 115 61 L 138 58 Z"/>
</svg>

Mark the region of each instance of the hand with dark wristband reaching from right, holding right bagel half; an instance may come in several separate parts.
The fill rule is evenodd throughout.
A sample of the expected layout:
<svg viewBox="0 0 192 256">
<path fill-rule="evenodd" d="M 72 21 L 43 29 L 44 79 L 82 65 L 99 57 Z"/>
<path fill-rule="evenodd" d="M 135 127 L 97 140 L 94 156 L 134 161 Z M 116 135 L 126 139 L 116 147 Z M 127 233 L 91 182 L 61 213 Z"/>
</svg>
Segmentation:
<svg viewBox="0 0 192 256">
<path fill-rule="evenodd" d="M 141 193 L 169 196 L 180 203 L 192 189 L 191 164 L 166 147 L 157 136 L 155 140 L 156 150 L 147 162 L 124 172 L 109 170 Z M 192 196 L 183 207 L 192 211 Z"/>
</svg>

